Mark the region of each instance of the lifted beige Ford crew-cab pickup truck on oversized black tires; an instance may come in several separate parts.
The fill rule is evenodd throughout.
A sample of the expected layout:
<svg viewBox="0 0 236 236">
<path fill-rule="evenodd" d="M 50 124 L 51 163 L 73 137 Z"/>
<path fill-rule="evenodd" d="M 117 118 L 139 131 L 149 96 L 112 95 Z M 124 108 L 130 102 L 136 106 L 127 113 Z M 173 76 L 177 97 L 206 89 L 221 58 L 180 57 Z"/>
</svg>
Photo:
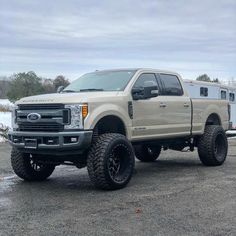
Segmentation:
<svg viewBox="0 0 236 236">
<path fill-rule="evenodd" d="M 60 93 L 16 102 L 11 163 L 28 181 L 46 179 L 60 164 L 87 166 L 96 187 L 119 189 L 132 177 L 135 156 L 155 161 L 162 149 L 197 147 L 204 165 L 223 164 L 229 115 L 227 101 L 190 99 L 173 72 L 96 71 Z"/>
</svg>

